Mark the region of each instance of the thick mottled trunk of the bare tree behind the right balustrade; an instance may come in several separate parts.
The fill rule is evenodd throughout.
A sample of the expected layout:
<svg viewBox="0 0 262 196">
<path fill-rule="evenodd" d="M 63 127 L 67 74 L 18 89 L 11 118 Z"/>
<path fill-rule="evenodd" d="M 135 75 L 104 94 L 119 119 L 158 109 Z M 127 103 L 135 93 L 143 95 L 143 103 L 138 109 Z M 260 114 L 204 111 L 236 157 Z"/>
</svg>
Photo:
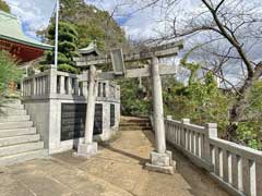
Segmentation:
<svg viewBox="0 0 262 196">
<path fill-rule="evenodd" d="M 237 96 L 235 103 L 231 107 L 229 113 L 229 124 L 226 130 L 226 138 L 228 140 L 237 142 L 237 128 L 238 122 L 242 119 L 245 110 L 248 106 L 248 98 L 250 90 L 254 82 L 259 81 L 262 75 L 262 63 L 258 64 L 254 69 L 254 74 L 251 77 L 248 77 L 240 88 L 240 95 Z"/>
</svg>

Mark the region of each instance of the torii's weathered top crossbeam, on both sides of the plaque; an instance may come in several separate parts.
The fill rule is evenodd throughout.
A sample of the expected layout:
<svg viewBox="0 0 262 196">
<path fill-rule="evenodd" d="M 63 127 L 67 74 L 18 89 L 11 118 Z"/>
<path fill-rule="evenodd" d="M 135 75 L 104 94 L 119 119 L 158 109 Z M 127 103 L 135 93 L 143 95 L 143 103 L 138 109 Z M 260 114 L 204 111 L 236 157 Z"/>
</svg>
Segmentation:
<svg viewBox="0 0 262 196">
<path fill-rule="evenodd" d="M 139 60 L 148 60 L 152 59 L 152 57 L 157 58 L 165 58 L 170 56 L 177 56 L 178 51 L 183 47 L 183 40 L 148 48 L 145 50 L 141 50 L 139 52 L 129 53 L 123 56 L 124 62 L 133 62 Z M 76 66 L 85 68 L 90 65 L 104 65 L 104 64 L 110 64 L 111 58 L 109 54 L 104 57 L 93 57 L 93 58 L 74 58 L 76 61 Z"/>
</svg>

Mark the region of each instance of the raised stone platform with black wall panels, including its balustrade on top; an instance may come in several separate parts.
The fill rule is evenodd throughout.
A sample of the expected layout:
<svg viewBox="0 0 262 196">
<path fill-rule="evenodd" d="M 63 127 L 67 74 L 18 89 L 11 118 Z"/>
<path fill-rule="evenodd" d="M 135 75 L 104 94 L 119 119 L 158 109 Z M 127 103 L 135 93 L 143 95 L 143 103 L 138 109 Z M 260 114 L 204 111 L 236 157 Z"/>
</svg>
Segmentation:
<svg viewBox="0 0 262 196">
<path fill-rule="evenodd" d="M 70 74 L 51 68 L 23 78 L 21 91 L 27 114 L 49 154 L 70 150 L 83 142 L 84 122 L 79 119 L 85 118 L 83 107 L 88 97 L 87 72 Z M 98 81 L 96 91 L 94 139 L 107 140 L 119 127 L 120 86 Z"/>
</svg>

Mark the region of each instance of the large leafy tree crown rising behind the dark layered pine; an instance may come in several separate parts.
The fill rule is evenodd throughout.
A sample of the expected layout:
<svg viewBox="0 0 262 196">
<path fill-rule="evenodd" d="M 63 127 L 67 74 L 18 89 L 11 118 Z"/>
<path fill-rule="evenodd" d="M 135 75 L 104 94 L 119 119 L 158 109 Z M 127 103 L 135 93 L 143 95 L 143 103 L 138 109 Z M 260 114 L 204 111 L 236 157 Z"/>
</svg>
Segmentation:
<svg viewBox="0 0 262 196">
<path fill-rule="evenodd" d="M 84 0 L 61 0 L 60 20 L 74 24 L 79 33 L 79 48 L 84 48 L 94 40 L 100 51 L 126 44 L 124 32 L 111 15 L 86 4 Z M 52 19 L 51 23 L 53 22 Z M 47 37 L 46 30 L 40 34 Z"/>
</svg>

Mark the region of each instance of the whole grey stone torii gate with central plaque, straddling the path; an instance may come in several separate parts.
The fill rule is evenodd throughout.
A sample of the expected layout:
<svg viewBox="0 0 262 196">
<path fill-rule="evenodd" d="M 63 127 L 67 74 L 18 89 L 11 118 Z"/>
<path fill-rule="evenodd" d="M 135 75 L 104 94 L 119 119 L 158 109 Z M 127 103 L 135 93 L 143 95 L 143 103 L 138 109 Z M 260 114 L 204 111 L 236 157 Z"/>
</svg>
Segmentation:
<svg viewBox="0 0 262 196">
<path fill-rule="evenodd" d="M 174 75 L 176 74 L 177 68 L 174 65 L 160 65 L 159 59 L 177 56 L 182 47 L 183 41 L 180 40 L 124 56 L 122 54 L 121 49 L 115 49 L 111 50 L 110 54 L 105 57 L 75 59 L 79 68 L 90 69 L 87 74 L 83 76 L 84 78 L 82 78 L 83 81 L 88 81 L 88 97 L 86 108 L 85 139 L 83 144 L 79 144 L 79 156 L 91 157 L 97 152 L 97 143 L 93 142 L 97 81 L 151 76 L 153 84 L 153 123 L 156 149 L 151 152 L 151 161 L 147 162 L 145 167 L 153 171 L 174 173 L 175 161 L 172 160 L 171 152 L 166 150 L 160 75 Z M 126 70 L 124 62 L 135 62 L 141 60 L 148 60 L 151 62 L 151 66 Z M 114 71 L 96 71 L 96 66 L 105 64 L 112 64 Z"/>
</svg>

